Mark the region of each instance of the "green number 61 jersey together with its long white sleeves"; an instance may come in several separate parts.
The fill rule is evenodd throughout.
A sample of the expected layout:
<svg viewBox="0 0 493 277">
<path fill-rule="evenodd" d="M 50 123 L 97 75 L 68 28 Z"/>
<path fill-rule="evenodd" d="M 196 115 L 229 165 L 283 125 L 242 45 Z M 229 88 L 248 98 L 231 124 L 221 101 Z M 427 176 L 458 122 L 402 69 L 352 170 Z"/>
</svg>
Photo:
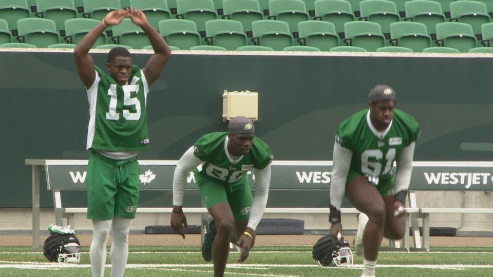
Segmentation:
<svg viewBox="0 0 493 277">
<path fill-rule="evenodd" d="M 414 142 L 420 132 L 418 122 L 398 109 L 394 110 L 389 127 L 382 132 L 371 124 L 368 109 L 347 118 L 339 125 L 334 145 L 331 204 L 340 208 L 345 186 L 360 175 L 368 177 L 383 196 L 407 189 Z M 394 161 L 397 161 L 397 175 L 401 171 L 405 176 L 395 174 Z M 394 177 L 399 179 L 395 188 Z"/>
</svg>

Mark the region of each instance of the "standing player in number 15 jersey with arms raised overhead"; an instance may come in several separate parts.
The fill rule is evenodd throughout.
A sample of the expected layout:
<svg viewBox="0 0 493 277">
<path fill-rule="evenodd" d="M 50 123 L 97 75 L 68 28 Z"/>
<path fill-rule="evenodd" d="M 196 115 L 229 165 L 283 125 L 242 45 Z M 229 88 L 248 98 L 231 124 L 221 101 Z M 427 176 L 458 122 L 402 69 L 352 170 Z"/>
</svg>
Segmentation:
<svg viewBox="0 0 493 277">
<path fill-rule="evenodd" d="M 149 37 L 155 54 L 145 68 L 132 65 L 128 50 L 113 48 L 106 73 L 94 65 L 89 50 L 101 33 L 130 17 Z M 149 148 L 146 98 L 171 51 L 164 39 L 136 8 L 109 12 L 74 49 L 75 64 L 89 100 L 87 149 L 87 218 L 93 236 L 89 251 L 92 276 L 102 277 L 106 242 L 111 245 L 111 276 L 123 276 L 128 256 L 128 232 L 139 202 L 137 151 Z"/>
</svg>

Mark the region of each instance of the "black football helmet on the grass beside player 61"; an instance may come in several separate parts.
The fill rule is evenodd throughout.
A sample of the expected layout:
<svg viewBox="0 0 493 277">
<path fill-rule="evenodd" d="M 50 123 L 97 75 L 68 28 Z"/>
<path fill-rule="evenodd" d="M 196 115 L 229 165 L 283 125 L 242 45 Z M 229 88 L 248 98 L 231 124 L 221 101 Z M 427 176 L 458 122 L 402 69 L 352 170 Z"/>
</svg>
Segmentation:
<svg viewBox="0 0 493 277">
<path fill-rule="evenodd" d="M 344 267 L 353 264 L 353 253 L 344 238 L 325 235 L 313 246 L 313 259 L 321 267 Z"/>
</svg>

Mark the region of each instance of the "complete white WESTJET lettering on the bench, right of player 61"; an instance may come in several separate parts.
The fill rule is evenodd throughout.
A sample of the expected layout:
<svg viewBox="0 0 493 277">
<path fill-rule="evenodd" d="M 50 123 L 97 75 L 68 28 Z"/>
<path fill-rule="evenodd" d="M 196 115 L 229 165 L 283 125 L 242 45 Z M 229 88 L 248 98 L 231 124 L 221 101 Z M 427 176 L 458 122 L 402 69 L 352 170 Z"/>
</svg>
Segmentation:
<svg viewBox="0 0 493 277">
<path fill-rule="evenodd" d="M 429 185 L 464 185 L 470 188 L 471 185 L 486 185 L 488 177 L 491 173 L 457 173 L 457 172 L 439 172 L 439 173 L 424 173 L 426 181 Z"/>
</svg>

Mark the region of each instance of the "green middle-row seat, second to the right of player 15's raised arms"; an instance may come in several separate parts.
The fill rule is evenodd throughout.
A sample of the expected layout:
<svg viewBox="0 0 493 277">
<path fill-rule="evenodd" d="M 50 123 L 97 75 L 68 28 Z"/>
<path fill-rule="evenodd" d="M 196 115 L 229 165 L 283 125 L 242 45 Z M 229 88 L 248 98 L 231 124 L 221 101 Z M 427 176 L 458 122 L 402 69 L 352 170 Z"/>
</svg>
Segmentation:
<svg viewBox="0 0 493 277">
<path fill-rule="evenodd" d="M 227 50 L 247 45 L 247 35 L 239 21 L 214 19 L 205 23 L 205 41 L 209 45 L 224 47 Z"/>
</svg>

